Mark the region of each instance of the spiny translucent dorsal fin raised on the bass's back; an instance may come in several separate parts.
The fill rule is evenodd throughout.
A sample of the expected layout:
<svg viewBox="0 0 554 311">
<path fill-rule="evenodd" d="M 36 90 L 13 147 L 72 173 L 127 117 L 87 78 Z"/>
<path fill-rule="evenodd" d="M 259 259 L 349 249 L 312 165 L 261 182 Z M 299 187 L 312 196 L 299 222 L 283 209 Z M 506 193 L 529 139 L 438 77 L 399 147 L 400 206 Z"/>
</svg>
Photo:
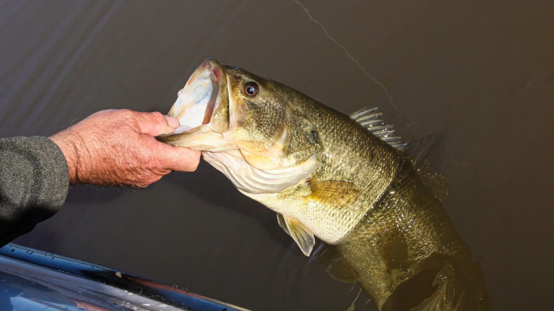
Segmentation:
<svg viewBox="0 0 554 311">
<path fill-rule="evenodd" d="M 350 118 L 392 147 L 402 150 L 404 145 L 400 142 L 400 137 L 394 136 L 393 126 L 385 124 L 381 118 L 382 115 L 383 113 L 378 112 L 377 108 L 368 109 L 365 107 L 352 112 Z"/>
</svg>

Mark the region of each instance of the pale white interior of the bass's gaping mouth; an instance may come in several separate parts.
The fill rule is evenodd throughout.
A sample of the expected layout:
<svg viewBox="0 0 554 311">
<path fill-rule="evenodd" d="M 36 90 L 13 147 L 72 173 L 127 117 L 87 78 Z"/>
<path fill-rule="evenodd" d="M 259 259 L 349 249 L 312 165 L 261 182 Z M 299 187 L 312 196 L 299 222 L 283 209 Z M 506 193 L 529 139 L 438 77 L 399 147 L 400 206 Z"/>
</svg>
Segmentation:
<svg viewBox="0 0 554 311">
<path fill-rule="evenodd" d="M 223 66 L 212 59 L 194 70 L 168 113 L 181 123 L 172 134 L 194 132 L 210 122 L 224 79 Z"/>
</svg>

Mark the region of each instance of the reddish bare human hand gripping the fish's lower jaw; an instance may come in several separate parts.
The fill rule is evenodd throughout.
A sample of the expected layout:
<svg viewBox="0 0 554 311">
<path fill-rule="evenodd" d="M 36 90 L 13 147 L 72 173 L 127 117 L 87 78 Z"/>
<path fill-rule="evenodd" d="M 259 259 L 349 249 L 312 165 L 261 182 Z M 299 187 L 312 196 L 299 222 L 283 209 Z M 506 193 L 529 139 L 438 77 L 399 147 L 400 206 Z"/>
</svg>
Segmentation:
<svg viewBox="0 0 554 311">
<path fill-rule="evenodd" d="M 102 110 L 50 139 L 65 155 L 71 184 L 145 187 L 172 170 L 198 167 L 199 151 L 156 141 L 177 126 L 160 112 Z"/>
</svg>

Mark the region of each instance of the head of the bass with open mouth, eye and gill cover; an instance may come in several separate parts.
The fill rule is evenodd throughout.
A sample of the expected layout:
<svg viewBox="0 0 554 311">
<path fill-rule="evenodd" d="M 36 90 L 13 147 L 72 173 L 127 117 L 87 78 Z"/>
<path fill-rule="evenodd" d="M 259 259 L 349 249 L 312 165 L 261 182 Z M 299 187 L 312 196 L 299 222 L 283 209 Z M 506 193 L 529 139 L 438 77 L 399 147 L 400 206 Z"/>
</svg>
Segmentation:
<svg viewBox="0 0 554 311">
<path fill-rule="evenodd" d="M 207 152 L 203 155 L 208 162 L 213 160 L 211 153 L 227 152 L 259 170 L 286 169 L 310 158 L 313 166 L 319 160 L 312 156 L 322 148 L 315 126 L 295 107 L 298 96 L 305 95 L 207 59 L 178 92 L 168 113 L 181 125 L 158 140 Z"/>
</svg>

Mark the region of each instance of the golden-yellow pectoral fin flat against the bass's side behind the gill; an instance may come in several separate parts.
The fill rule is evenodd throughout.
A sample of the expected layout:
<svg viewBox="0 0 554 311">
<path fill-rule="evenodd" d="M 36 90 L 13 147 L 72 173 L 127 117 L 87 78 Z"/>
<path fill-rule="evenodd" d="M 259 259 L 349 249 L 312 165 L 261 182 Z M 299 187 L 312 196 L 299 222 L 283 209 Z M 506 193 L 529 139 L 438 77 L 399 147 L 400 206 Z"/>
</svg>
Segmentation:
<svg viewBox="0 0 554 311">
<path fill-rule="evenodd" d="M 308 182 L 312 192 L 309 199 L 319 201 L 331 208 L 343 208 L 356 199 L 356 186 L 343 180 Z"/>
</svg>

